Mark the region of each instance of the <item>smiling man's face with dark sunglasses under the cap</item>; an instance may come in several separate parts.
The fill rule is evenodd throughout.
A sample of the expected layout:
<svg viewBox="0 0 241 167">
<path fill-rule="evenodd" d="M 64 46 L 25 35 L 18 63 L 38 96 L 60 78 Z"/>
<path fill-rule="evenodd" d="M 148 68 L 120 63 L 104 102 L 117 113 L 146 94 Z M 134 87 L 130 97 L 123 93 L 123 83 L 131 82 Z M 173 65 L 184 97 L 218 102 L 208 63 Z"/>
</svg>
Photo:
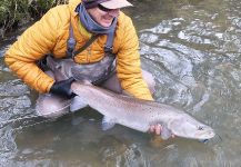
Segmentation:
<svg viewBox="0 0 241 167">
<path fill-rule="evenodd" d="M 114 17 L 120 12 L 119 9 L 107 9 L 101 4 L 87 11 L 97 23 L 106 28 L 111 26 Z"/>
</svg>

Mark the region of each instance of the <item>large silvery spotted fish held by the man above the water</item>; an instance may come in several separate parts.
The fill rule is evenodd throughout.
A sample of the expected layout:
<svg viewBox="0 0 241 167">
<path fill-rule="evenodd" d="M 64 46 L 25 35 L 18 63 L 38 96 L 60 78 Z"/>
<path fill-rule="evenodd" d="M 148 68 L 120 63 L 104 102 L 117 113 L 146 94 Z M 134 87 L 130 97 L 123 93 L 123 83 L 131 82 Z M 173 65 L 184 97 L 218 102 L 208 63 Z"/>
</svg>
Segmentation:
<svg viewBox="0 0 241 167">
<path fill-rule="evenodd" d="M 78 81 L 71 85 L 71 89 L 78 95 L 72 102 L 73 108 L 78 108 L 78 101 L 80 101 L 81 105 L 84 102 L 101 112 L 104 116 L 102 120 L 103 129 L 120 124 L 145 132 L 150 126 L 160 124 L 163 139 L 168 139 L 172 134 L 201 140 L 214 137 L 214 130 L 211 127 L 174 107 L 117 95 Z"/>
</svg>

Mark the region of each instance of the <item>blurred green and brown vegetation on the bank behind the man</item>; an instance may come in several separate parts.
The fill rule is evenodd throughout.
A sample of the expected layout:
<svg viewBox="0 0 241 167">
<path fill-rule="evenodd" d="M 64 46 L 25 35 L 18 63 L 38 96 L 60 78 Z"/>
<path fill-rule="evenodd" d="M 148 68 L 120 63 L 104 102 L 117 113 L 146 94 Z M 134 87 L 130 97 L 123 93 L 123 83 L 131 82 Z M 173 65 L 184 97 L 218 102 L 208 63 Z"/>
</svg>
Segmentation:
<svg viewBox="0 0 241 167">
<path fill-rule="evenodd" d="M 68 0 L 0 0 L 0 38 Z"/>
</svg>

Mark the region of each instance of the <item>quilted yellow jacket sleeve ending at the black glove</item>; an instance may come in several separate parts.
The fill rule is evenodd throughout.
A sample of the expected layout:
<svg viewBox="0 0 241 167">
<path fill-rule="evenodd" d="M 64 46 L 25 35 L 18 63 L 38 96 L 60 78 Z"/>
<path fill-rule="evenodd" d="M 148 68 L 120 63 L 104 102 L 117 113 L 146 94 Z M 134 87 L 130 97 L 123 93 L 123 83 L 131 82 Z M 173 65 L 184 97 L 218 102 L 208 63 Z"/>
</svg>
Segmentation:
<svg viewBox="0 0 241 167">
<path fill-rule="evenodd" d="M 57 40 L 57 17 L 53 10 L 28 28 L 4 55 L 4 61 L 27 85 L 39 92 L 48 92 L 54 80 L 47 76 L 37 61 L 51 52 Z"/>
</svg>

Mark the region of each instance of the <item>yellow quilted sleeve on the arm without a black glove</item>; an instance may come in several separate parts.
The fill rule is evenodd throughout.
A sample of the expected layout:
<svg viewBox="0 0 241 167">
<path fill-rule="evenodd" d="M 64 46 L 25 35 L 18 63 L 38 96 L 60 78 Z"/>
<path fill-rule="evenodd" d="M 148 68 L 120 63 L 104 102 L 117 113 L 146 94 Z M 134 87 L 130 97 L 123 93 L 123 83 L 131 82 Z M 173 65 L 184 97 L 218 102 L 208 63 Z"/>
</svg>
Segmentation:
<svg viewBox="0 0 241 167">
<path fill-rule="evenodd" d="M 142 78 L 139 41 L 130 18 L 125 18 L 123 38 L 118 51 L 117 71 L 121 87 L 130 95 L 147 100 L 153 100 L 147 82 Z"/>
</svg>

